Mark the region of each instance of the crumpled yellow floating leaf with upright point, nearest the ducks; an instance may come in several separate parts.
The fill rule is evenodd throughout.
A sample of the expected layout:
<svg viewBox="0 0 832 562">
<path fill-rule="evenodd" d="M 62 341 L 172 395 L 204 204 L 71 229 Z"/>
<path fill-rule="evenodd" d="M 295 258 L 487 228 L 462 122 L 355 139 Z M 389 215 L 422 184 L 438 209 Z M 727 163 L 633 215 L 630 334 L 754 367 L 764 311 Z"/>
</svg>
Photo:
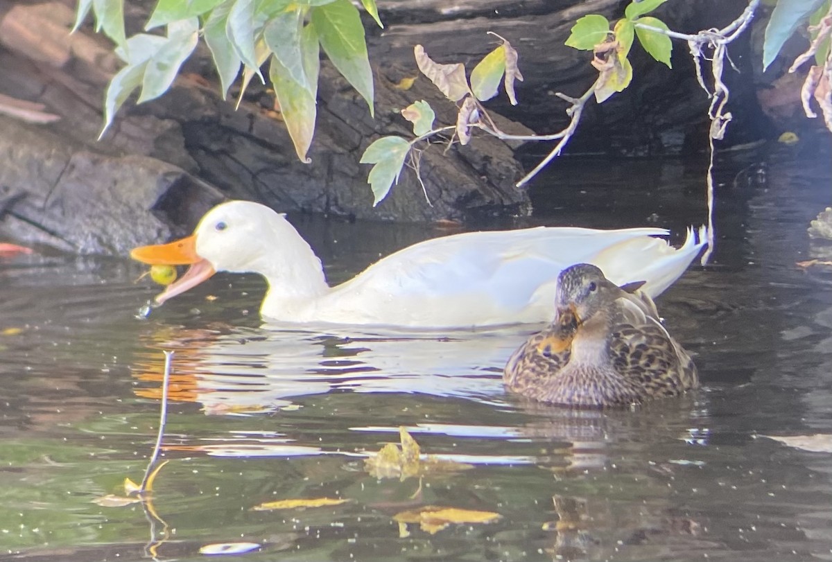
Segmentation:
<svg viewBox="0 0 832 562">
<path fill-rule="evenodd" d="M 364 470 L 376 478 L 399 478 L 423 476 L 430 472 L 465 471 L 473 468 L 462 462 L 445 461 L 433 456 L 421 457 L 418 443 L 404 427 L 399 427 L 401 448 L 388 443 L 375 456 L 364 460 Z"/>
</svg>

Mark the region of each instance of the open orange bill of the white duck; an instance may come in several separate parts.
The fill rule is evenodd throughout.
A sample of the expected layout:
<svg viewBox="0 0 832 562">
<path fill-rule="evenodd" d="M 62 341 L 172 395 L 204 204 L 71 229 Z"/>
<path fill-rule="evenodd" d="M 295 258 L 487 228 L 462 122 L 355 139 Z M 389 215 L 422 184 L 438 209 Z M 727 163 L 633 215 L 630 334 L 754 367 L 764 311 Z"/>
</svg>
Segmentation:
<svg viewBox="0 0 832 562">
<path fill-rule="evenodd" d="M 156 303 L 159 304 L 185 293 L 189 288 L 196 287 L 216 273 L 210 262 L 196 253 L 196 236 L 194 235 L 174 240 L 170 244 L 134 248 L 130 252 L 130 257 L 148 265 L 191 265 L 181 278 L 156 295 Z"/>
</svg>

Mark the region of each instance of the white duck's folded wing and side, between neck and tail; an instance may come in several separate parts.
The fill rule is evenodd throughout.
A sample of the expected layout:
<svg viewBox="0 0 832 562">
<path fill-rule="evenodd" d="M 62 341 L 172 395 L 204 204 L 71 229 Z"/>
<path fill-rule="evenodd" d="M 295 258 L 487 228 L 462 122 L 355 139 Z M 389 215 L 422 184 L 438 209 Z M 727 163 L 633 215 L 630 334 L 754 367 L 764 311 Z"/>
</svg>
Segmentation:
<svg viewBox="0 0 832 562">
<path fill-rule="evenodd" d="M 636 248 L 639 259 L 661 258 L 667 244 L 651 236 L 664 234 L 653 228 L 537 228 L 427 240 L 334 288 L 316 303 L 315 315 L 330 322 L 433 328 L 545 322 L 563 268 L 589 262 L 603 269 L 599 256 L 619 246 Z"/>
</svg>

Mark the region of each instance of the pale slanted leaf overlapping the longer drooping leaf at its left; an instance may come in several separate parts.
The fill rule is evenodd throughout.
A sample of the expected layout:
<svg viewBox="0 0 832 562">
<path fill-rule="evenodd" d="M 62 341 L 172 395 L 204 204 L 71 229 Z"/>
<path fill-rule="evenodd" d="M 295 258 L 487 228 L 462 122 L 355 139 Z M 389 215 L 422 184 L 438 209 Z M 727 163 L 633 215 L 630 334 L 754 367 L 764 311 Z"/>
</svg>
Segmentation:
<svg viewBox="0 0 832 562">
<path fill-rule="evenodd" d="M 200 22 L 196 17 L 168 24 L 167 41 L 147 62 L 138 103 L 154 100 L 171 87 L 182 63 L 196 48 L 199 31 Z"/>
</svg>

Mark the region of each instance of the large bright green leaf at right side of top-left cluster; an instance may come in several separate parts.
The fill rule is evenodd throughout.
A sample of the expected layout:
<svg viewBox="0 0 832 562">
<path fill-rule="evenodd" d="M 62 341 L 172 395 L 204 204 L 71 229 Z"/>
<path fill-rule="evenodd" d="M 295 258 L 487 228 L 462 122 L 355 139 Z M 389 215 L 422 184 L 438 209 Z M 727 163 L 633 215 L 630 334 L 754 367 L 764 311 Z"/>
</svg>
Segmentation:
<svg viewBox="0 0 832 562">
<path fill-rule="evenodd" d="M 326 6 L 312 8 L 312 25 L 321 47 L 344 78 L 373 108 L 373 70 L 367 57 L 364 25 L 357 7 L 349 0 L 335 0 Z"/>
</svg>

